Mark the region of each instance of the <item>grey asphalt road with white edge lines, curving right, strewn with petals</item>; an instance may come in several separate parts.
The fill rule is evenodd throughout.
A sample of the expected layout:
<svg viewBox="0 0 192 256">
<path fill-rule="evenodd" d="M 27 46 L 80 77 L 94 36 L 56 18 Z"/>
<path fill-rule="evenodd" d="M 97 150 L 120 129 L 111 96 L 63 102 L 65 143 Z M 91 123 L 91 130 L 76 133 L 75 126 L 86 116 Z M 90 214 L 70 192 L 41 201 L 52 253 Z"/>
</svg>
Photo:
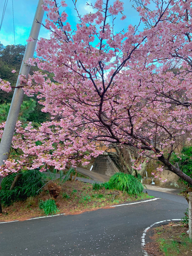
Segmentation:
<svg viewBox="0 0 192 256">
<path fill-rule="evenodd" d="M 180 196 L 148 190 L 156 201 L 111 207 L 80 215 L 0 224 L 1 256 L 143 255 L 144 228 L 180 219 L 187 201 Z"/>
</svg>

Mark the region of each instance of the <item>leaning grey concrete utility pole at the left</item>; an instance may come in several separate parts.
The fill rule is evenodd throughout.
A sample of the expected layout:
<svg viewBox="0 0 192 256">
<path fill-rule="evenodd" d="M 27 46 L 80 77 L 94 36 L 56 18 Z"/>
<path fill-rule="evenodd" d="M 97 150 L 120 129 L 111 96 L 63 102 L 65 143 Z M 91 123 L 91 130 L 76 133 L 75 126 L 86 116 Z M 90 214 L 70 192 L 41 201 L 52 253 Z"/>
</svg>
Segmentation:
<svg viewBox="0 0 192 256">
<path fill-rule="evenodd" d="M 25 65 L 25 62 L 29 58 L 33 58 L 36 42 L 37 42 L 36 39 L 38 38 L 39 30 L 40 30 L 39 23 L 42 23 L 42 18 L 44 16 L 44 10 L 42 10 L 42 7 L 41 7 L 42 4 L 43 4 L 43 1 L 39 0 L 37 9 L 35 12 L 33 24 L 31 27 L 31 32 L 30 32 L 30 36 L 34 38 L 34 41 L 28 42 L 25 50 L 22 66 L 20 67 L 20 71 L 19 71 L 19 74 L 25 75 L 26 78 L 28 77 L 30 67 Z M 37 23 L 36 21 L 38 21 L 39 23 Z M 10 151 L 11 142 L 12 142 L 12 138 L 15 130 L 15 125 L 16 125 L 18 114 L 20 111 L 20 105 L 22 104 L 22 101 L 23 101 L 24 91 L 22 88 L 19 88 L 20 87 L 19 78 L 17 78 L 16 87 L 18 88 L 15 88 L 15 91 L 13 94 L 4 133 L 0 143 L 0 166 L 3 165 L 4 161 L 6 161 L 8 158 L 8 154 Z M 1 184 L 1 181 L 2 179 L 0 179 L 0 184 Z"/>
</svg>

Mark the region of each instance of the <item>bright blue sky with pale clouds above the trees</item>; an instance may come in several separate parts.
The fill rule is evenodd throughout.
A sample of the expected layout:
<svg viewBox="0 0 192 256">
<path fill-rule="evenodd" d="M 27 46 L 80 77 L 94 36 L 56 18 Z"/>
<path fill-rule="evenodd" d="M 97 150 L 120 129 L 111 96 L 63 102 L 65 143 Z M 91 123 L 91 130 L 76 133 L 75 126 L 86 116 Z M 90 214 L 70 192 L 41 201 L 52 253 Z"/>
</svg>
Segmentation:
<svg viewBox="0 0 192 256">
<path fill-rule="evenodd" d="M 5 0 L 0 1 L 0 20 L 2 19 L 4 2 Z M 58 0 L 58 2 L 60 2 L 60 0 Z M 86 2 L 94 3 L 95 0 L 77 0 L 78 10 L 82 15 L 91 11 L 91 8 L 86 6 Z M 111 3 L 113 2 L 114 0 L 111 0 Z M 27 44 L 26 39 L 29 37 L 37 3 L 38 0 L 13 0 L 16 45 Z M 73 3 L 71 0 L 66 0 L 66 3 L 68 4 L 68 7 L 66 8 L 69 15 L 68 22 L 75 26 L 75 24 L 78 22 L 78 18 L 76 17 L 77 15 L 74 10 Z M 117 19 L 116 28 L 118 28 L 118 31 L 123 28 L 126 29 L 129 24 L 138 24 L 139 16 L 132 8 L 132 5 L 133 2 L 130 3 L 130 0 L 124 0 L 124 14 L 127 16 L 127 19 L 121 22 L 119 19 Z M 48 31 L 41 28 L 39 37 L 49 38 Z M 7 4 L 2 29 L 0 31 L 0 42 L 4 46 L 14 44 L 12 0 L 9 0 Z"/>
</svg>

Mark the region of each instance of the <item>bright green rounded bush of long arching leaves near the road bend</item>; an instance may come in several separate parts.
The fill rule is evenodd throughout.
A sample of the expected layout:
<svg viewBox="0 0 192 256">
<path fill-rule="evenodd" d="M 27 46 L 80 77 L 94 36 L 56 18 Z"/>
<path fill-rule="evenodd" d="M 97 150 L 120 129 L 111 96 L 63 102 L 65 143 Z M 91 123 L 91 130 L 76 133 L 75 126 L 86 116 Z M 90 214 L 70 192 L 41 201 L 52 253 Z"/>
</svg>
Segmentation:
<svg viewBox="0 0 192 256">
<path fill-rule="evenodd" d="M 110 188 L 126 191 L 129 195 L 139 195 L 143 191 L 143 185 L 133 175 L 116 173 L 109 181 Z"/>
</svg>

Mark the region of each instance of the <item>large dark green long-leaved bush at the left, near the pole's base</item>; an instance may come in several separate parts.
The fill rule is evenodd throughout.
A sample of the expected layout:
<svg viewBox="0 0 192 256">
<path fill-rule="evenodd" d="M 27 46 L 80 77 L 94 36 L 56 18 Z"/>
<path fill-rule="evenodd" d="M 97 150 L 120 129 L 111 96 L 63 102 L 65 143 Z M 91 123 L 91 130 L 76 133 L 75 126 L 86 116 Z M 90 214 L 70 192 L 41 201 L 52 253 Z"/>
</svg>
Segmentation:
<svg viewBox="0 0 192 256">
<path fill-rule="evenodd" d="M 13 202 L 26 200 L 28 197 L 34 197 L 40 193 L 39 188 L 45 184 L 45 174 L 39 172 L 37 169 L 28 170 L 20 174 L 22 174 L 22 176 L 12 190 L 9 189 L 15 176 L 18 174 L 11 174 L 3 179 L 2 189 L 0 190 L 3 205 L 9 206 Z"/>
</svg>

